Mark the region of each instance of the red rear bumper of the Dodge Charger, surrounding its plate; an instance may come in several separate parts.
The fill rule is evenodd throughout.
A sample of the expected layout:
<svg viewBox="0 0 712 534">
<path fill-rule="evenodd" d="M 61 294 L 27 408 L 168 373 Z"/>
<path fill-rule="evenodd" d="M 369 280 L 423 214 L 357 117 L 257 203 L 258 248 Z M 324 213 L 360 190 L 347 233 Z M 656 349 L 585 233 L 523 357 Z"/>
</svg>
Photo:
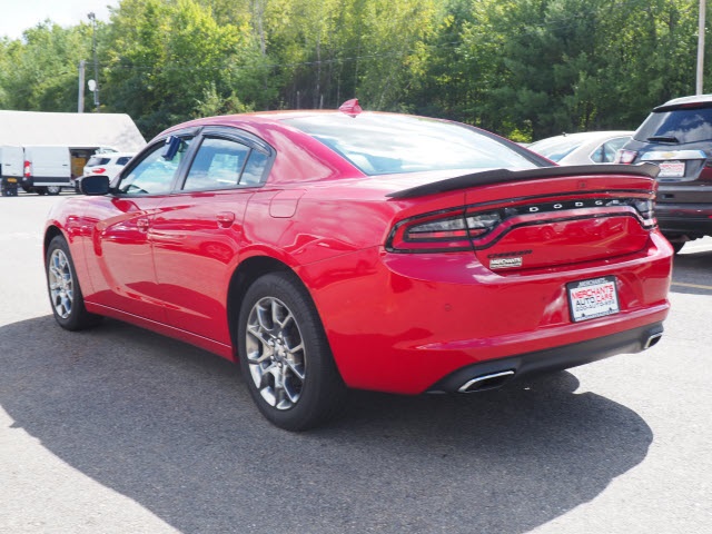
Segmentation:
<svg viewBox="0 0 712 534">
<path fill-rule="evenodd" d="M 670 308 L 672 248 L 657 233 L 635 255 L 531 273 L 493 273 L 472 253 L 372 249 L 338 263 L 339 269 L 320 261 L 298 274 L 354 388 L 419 394 L 459 369 L 497 367 L 503 358 L 531 355 L 518 364 L 524 370 L 553 369 L 636 352 Z M 615 277 L 620 313 L 572 323 L 566 284 L 601 276 Z M 582 343 L 585 354 L 570 350 Z M 540 357 L 541 365 L 528 363 Z"/>
</svg>

